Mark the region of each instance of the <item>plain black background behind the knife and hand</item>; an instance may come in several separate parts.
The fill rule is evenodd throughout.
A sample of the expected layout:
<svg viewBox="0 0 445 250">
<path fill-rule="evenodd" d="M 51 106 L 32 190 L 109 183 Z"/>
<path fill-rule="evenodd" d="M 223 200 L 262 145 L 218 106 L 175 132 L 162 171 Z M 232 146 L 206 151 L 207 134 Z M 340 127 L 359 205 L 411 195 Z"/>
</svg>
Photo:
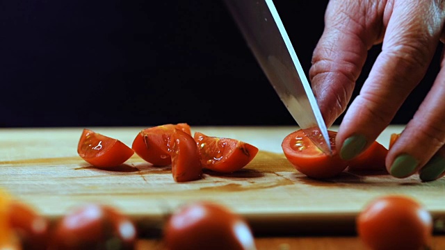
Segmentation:
<svg viewBox="0 0 445 250">
<path fill-rule="evenodd" d="M 327 0 L 275 5 L 308 72 Z M 222 0 L 3 0 L 0 21 L 0 126 L 295 124 Z M 409 121 L 438 65 L 393 123 Z"/>
</svg>

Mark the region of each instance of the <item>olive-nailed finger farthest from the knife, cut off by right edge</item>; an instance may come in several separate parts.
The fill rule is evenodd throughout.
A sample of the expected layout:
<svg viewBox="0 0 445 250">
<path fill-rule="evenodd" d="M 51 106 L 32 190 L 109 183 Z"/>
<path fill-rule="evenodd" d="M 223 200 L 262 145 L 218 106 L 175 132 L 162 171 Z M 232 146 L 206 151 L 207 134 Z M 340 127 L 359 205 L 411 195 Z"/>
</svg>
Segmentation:
<svg viewBox="0 0 445 250">
<path fill-rule="evenodd" d="M 422 181 L 434 181 L 445 171 L 445 60 L 435 83 L 413 119 L 391 147 L 387 169 L 398 178 L 419 171 Z"/>
</svg>

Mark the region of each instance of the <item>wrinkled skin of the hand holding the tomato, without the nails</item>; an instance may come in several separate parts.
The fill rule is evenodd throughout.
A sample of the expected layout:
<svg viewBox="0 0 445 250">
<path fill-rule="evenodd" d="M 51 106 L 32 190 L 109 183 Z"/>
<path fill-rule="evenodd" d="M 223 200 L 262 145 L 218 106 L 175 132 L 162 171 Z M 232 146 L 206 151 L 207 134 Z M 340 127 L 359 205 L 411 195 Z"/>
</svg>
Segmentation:
<svg viewBox="0 0 445 250">
<path fill-rule="evenodd" d="M 309 72 L 327 126 L 345 112 L 369 49 L 382 44 L 382 52 L 359 95 L 346 110 L 337 133 L 337 147 L 341 150 L 346 149 L 343 143 L 352 135 L 362 135 L 366 139 L 362 147 L 356 147 L 357 152 L 349 154 L 350 158 L 371 145 L 426 74 L 439 42 L 445 41 L 444 9 L 445 1 L 439 0 L 331 0 L 328 3 L 325 30 L 314 51 Z M 389 150 L 386 167 L 398 178 L 435 167 L 437 176 L 430 174 L 423 179 L 433 181 L 444 176 L 441 169 L 445 167 L 445 158 L 439 158 L 434 165 L 430 160 L 433 156 L 445 156 L 444 143 L 442 55 L 437 78 L 419 110 Z M 411 167 L 391 172 L 396 168 L 396 158 L 403 155 L 411 156 Z"/>
</svg>

